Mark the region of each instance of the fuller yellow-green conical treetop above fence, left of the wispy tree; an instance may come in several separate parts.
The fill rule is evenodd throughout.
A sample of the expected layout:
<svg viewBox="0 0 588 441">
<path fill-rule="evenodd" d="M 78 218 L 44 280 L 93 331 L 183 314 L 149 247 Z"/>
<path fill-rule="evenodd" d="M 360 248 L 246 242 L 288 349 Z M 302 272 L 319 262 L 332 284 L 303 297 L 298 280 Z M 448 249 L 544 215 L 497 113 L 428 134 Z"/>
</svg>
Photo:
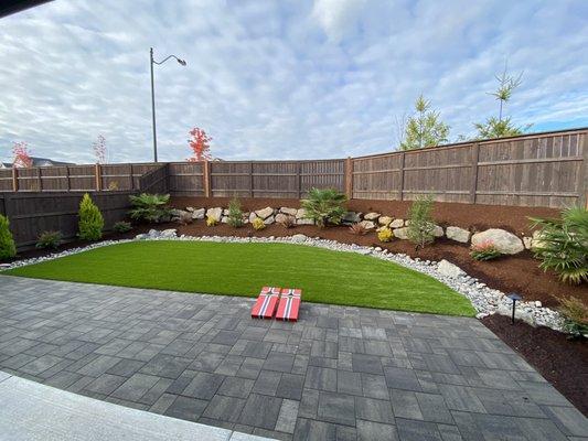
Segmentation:
<svg viewBox="0 0 588 441">
<path fill-rule="evenodd" d="M 447 142 L 449 126 L 439 119 L 439 112 L 431 110 L 430 101 L 420 95 L 415 101 L 416 112 L 408 118 L 402 150 L 435 147 Z"/>
</svg>

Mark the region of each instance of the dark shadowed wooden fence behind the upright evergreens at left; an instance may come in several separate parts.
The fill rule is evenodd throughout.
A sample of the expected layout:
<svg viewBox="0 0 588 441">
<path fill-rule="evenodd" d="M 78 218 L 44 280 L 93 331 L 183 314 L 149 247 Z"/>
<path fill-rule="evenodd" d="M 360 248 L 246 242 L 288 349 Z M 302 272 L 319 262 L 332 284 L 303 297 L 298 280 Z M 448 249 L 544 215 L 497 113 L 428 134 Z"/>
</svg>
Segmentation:
<svg viewBox="0 0 588 441">
<path fill-rule="evenodd" d="M 90 193 L 104 216 L 105 229 L 125 218 L 130 194 L 132 192 Z M 82 192 L 3 193 L 0 211 L 9 217 L 10 230 L 20 248 L 34 245 L 39 234 L 49 230 L 60 230 L 70 239 L 77 234 L 77 212 L 83 195 Z"/>
</svg>

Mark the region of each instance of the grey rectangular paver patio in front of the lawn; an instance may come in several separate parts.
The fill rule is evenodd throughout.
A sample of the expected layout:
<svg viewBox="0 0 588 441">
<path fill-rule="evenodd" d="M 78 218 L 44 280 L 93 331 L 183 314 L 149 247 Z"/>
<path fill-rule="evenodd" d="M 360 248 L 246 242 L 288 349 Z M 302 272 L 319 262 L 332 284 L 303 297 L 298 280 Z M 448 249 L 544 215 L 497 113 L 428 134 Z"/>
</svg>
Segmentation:
<svg viewBox="0 0 588 441">
<path fill-rule="evenodd" d="M 474 319 L 303 303 L 281 323 L 250 319 L 252 304 L 0 276 L 0 370 L 277 439 L 588 437 Z"/>
</svg>

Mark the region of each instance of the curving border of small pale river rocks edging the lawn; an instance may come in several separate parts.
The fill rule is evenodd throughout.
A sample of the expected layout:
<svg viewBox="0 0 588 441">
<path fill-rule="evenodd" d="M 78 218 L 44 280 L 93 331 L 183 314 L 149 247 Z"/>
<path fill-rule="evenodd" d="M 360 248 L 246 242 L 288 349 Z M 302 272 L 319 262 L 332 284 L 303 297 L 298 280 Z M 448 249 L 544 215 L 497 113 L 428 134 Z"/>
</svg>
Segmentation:
<svg viewBox="0 0 588 441">
<path fill-rule="evenodd" d="M 124 244 L 137 240 L 194 240 L 194 241 L 218 241 L 218 243 L 281 243 L 298 244 L 334 251 L 357 252 L 371 256 L 376 259 L 392 261 L 403 267 L 419 271 L 430 276 L 441 283 L 459 292 L 470 300 L 478 311 L 477 318 L 482 319 L 491 314 L 511 315 L 512 301 L 501 291 L 489 288 L 485 283 L 468 276 L 456 265 L 447 261 L 431 261 L 419 258 L 411 258 L 405 254 L 393 254 L 381 247 L 364 247 L 355 244 L 342 244 L 335 240 L 321 239 L 319 237 L 308 237 L 302 234 L 295 234 L 285 237 L 236 237 L 236 236 L 177 236 L 175 229 L 156 230 L 151 229 L 147 234 L 137 235 L 135 239 L 105 240 L 92 244 L 86 247 L 72 248 L 62 252 L 55 252 L 43 257 L 18 260 L 11 263 L 0 265 L 0 270 L 20 268 L 34 265 L 60 257 L 84 252 L 90 249 L 106 247 L 115 244 Z M 556 331 L 563 331 L 563 316 L 549 308 L 543 308 L 538 301 L 518 302 L 516 306 L 516 318 L 533 326 L 547 326 Z"/>
</svg>

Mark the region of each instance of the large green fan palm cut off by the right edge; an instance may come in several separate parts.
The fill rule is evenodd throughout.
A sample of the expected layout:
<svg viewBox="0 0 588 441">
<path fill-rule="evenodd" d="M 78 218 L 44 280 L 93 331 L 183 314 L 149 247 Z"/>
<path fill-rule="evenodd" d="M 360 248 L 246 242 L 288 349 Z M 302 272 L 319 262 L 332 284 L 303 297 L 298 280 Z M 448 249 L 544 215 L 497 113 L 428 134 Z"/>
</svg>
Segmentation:
<svg viewBox="0 0 588 441">
<path fill-rule="evenodd" d="M 564 282 L 588 281 L 588 211 L 570 207 L 558 219 L 531 218 L 532 228 L 541 227 L 535 257 L 539 268 L 552 269 Z"/>
</svg>

